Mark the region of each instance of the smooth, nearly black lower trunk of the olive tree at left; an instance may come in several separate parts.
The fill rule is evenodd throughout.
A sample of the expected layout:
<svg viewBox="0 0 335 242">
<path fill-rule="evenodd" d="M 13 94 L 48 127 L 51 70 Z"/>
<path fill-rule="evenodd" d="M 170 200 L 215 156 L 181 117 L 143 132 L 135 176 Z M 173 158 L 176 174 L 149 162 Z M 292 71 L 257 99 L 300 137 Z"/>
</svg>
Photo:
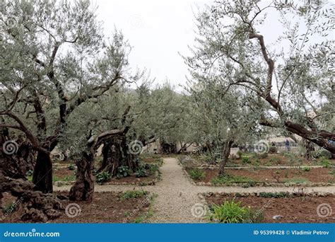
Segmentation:
<svg viewBox="0 0 335 242">
<path fill-rule="evenodd" d="M 52 161 L 49 152 L 37 151 L 33 183 L 43 193 L 52 193 Z"/>
</svg>

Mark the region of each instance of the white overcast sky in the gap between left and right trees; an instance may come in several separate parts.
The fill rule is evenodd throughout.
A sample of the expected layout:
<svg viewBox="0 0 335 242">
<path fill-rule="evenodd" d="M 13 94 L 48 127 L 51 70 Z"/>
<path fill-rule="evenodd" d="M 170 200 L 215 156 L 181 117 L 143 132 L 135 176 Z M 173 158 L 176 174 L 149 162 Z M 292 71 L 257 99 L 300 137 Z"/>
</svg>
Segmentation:
<svg viewBox="0 0 335 242">
<path fill-rule="evenodd" d="M 165 79 L 177 86 L 184 83 L 187 67 L 181 54 L 189 53 L 187 45 L 194 40 L 194 13 L 204 1 L 191 0 L 93 0 L 98 4 L 98 18 L 105 34 L 114 26 L 129 40 L 131 67 L 146 67 L 156 83 Z M 208 1 L 207 1 L 208 2 Z"/>
</svg>

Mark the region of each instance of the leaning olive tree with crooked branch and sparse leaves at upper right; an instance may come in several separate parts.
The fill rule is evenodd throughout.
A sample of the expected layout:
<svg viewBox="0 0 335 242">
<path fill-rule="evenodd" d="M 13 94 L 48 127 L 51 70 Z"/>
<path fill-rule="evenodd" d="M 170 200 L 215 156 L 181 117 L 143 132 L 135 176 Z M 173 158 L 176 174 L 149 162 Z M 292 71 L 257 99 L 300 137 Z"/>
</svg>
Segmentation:
<svg viewBox="0 0 335 242">
<path fill-rule="evenodd" d="M 236 87 L 250 91 L 248 105 L 262 110 L 261 125 L 335 154 L 334 40 L 328 36 L 335 22 L 329 3 L 218 0 L 196 23 L 199 37 L 185 58 L 193 76 L 218 83 L 223 94 Z"/>
</svg>

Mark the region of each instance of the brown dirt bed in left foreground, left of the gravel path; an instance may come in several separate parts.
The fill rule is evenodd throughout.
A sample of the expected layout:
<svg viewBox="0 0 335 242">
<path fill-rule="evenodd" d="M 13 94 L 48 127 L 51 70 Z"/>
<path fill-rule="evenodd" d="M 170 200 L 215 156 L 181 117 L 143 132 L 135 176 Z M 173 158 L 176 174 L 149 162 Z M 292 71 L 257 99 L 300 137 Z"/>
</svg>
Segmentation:
<svg viewBox="0 0 335 242">
<path fill-rule="evenodd" d="M 59 192 L 60 193 L 60 192 Z M 62 192 L 63 195 L 66 193 Z M 68 217 L 63 211 L 61 217 L 50 220 L 49 223 L 131 223 L 139 219 L 139 217 L 148 212 L 150 200 L 146 197 L 129 198 L 122 200 L 120 195 L 122 192 L 95 192 L 92 203 L 76 202 L 81 212 L 74 208 L 72 214 L 78 214 L 76 217 Z M 8 193 L 4 193 L 3 204 L 15 202 L 13 197 Z M 64 208 L 72 201 L 62 201 Z M 70 215 L 71 215 L 71 210 Z M 23 223 L 20 221 L 22 209 L 8 216 L 0 216 L 2 223 Z"/>
</svg>

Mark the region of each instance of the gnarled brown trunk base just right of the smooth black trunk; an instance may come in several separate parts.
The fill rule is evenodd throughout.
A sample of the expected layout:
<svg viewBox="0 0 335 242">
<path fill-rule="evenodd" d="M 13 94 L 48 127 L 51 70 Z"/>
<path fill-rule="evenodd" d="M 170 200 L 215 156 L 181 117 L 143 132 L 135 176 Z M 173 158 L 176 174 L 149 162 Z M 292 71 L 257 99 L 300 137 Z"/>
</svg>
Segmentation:
<svg viewBox="0 0 335 242">
<path fill-rule="evenodd" d="M 76 183 L 69 192 L 70 200 L 92 202 L 94 193 L 93 165 L 94 155 L 91 152 L 84 151 L 82 158 L 76 160 Z"/>
</svg>

